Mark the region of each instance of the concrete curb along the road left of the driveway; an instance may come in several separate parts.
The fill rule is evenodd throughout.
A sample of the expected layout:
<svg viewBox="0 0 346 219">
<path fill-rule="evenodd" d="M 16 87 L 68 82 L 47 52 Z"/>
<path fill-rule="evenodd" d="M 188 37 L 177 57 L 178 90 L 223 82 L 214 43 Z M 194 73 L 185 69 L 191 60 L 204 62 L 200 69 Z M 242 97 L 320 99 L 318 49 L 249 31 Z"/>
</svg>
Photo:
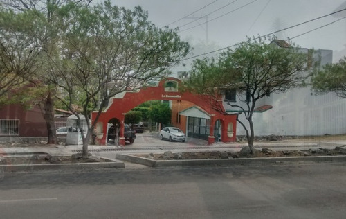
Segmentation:
<svg viewBox="0 0 346 219">
<path fill-rule="evenodd" d="M 107 159 L 109 162 L 99 162 L 99 163 L 75 163 L 75 164 L 10 164 L 10 165 L 0 165 L 4 172 L 30 172 L 35 171 L 64 171 L 64 170 L 85 170 L 85 169 L 96 169 L 96 168 L 125 168 L 125 164 L 115 159 L 109 159 L 105 157 L 100 157 L 102 159 Z"/>
</svg>

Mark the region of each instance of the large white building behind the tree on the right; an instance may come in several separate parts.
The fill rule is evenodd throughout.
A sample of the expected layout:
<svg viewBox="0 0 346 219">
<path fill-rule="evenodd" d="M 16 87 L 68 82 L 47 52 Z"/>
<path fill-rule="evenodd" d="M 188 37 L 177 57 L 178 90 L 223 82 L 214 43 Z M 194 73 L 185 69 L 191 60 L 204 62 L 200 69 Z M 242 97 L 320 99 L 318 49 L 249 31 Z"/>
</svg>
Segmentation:
<svg viewBox="0 0 346 219">
<path fill-rule="evenodd" d="M 307 53 L 308 49 L 302 51 Z M 332 56 L 331 50 L 319 49 L 313 53 L 313 59 L 320 57 L 321 66 L 331 63 Z M 239 100 L 235 101 L 239 103 Z M 227 103 L 228 101 L 224 101 L 227 112 L 232 113 L 237 110 Z M 334 93 L 317 96 L 310 87 L 295 88 L 282 94 L 270 94 L 258 100 L 256 107 L 262 105 L 273 108 L 254 114 L 255 136 L 346 133 L 346 98 L 339 98 Z M 244 119 L 242 114 L 239 118 Z M 247 124 L 245 119 L 244 124 Z M 237 123 L 237 135 L 245 134 L 242 125 Z"/>
</svg>

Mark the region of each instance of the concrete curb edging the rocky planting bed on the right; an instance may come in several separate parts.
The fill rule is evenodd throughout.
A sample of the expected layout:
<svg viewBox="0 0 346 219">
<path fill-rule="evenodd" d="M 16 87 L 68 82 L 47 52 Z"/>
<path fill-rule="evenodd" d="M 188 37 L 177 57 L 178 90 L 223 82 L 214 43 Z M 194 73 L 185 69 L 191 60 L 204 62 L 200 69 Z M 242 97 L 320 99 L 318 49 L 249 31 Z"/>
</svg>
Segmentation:
<svg viewBox="0 0 346 219">
<path fill-rule="evenodd" d="M 236 159 L 190 159 L 190 160 L 166 160 L 156 161 L 134 155 L 116 155 L 116 159 L 142 164 L 149 167 L 182 167 L 182 166 L 251 166 L 287 164 L 294 162 L 345 162 L 346 156 L 316 156 L 316 157 L 262 157 L 262 158 L 236 158 Z"/>
</svg>

